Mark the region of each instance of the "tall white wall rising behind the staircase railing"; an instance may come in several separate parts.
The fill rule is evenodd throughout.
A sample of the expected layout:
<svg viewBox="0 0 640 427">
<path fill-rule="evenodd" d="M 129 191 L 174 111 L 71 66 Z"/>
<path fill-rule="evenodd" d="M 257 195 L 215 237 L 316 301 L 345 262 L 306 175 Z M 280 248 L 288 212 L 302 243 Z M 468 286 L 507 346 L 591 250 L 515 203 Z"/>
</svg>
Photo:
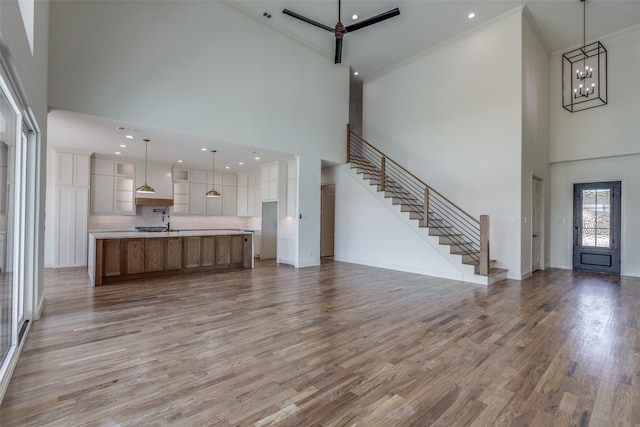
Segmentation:
<svg viewBox="0 0 640 427">
<path fill-rule="evenodd" d="M 520 278 L 522 12 L 365 82 L 364 137 L 478 218 Z M 336 192 L 338 189 L 336 189 Z"/>
</svg>

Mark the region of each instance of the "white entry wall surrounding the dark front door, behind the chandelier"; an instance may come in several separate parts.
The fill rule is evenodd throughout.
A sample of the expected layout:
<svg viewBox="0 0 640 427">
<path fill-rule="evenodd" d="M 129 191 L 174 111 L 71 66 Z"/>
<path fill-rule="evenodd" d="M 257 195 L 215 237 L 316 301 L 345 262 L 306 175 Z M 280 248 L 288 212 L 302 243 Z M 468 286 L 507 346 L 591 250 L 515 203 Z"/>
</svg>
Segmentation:
<svg viewBox="0 0 640 427">
<path fill-rule="evenodd" d="M 573 184 L 622 181 L 621 274 L 640 276 L 640 27 L 601 39 L 609 103 L 577 113 L 561 105 L 561 55 L 551 57 L 551 266 L 572 268 Z"/>
</svg>

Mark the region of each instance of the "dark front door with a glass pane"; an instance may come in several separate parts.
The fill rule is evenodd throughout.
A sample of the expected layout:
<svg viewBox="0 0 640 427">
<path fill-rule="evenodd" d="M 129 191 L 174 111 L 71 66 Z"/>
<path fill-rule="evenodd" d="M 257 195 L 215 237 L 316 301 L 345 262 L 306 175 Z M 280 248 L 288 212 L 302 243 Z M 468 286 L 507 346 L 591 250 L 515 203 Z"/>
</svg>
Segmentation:
<svg viewBox="0 0 640 427">
<path fill-rule="evenodd" d="M 620 274 L 620 181 L 573 186 L 573 268 Z"/>
</svg>

